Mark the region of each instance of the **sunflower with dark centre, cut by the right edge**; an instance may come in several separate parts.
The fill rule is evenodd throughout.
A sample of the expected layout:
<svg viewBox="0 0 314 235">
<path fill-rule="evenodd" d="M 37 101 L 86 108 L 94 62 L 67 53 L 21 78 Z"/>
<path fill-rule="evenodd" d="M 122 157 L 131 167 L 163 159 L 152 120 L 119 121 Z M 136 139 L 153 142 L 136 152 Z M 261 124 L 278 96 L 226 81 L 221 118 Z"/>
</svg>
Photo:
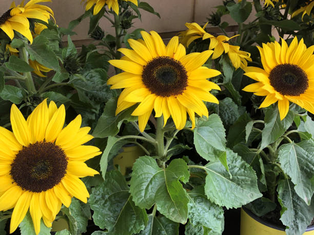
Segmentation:
<svg viewBox="0 0 314 235">
<path fill-rule="evenodd" d="M 293 38 L 288 47 L 275 41 L 258 47 L 264 69 L 245 68 L 245 75 L 258 81 L 243 90 L 266 96 L 260 105 L 265 108 L 278 101 L 281 120 L 289 111 L 289 101 L 314 113 L 314 46 L 306 48 L 303 38 Z"/>
</svg>

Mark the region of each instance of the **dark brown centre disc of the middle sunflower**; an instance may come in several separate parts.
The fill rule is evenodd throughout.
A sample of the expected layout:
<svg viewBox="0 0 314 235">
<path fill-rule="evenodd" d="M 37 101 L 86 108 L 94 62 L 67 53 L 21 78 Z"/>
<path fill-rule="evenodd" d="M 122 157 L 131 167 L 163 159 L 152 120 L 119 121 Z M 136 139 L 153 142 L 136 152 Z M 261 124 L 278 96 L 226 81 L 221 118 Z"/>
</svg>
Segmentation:
<svg viewBox="0 0 314 235">
<path fill-rule="evenodd" d="M 180 95 L 187 87 L 187 72 L 179 60 L 155 57 L 143 68 L 143 83 L 158 96 Z"/>
</svg>

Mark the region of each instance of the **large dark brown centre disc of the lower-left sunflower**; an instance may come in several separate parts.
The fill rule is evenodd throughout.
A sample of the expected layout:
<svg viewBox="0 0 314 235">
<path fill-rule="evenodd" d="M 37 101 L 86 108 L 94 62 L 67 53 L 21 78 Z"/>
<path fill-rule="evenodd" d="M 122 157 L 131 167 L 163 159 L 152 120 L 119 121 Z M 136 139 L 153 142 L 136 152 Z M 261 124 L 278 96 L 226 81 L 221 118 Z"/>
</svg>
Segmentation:
<svg viewBox="0 0 314 235">
<path fill-rule="evenodd" d="M 60 183 L 66 174 L 67 157 L 51 142 L 36 142 L 23 146 L 11 164 L 14 182 L 24 190 L 40 193 Z"/>
</svg>

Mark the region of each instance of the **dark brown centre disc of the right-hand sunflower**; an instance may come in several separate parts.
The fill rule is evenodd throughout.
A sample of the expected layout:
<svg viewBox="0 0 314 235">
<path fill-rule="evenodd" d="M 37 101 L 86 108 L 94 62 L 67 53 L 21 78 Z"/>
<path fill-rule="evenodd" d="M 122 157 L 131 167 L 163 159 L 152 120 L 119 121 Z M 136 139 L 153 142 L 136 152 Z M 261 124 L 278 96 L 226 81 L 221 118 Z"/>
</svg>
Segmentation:
<svg viewBox="0 0 314 235">
<path fill-rule="evenodd" d="M 274 67 L 269 74 L 271 86 L 282 95 L 299 96 L 308 88 L 308 78 L 303 69 L 291 63 Z"/>
</svg>

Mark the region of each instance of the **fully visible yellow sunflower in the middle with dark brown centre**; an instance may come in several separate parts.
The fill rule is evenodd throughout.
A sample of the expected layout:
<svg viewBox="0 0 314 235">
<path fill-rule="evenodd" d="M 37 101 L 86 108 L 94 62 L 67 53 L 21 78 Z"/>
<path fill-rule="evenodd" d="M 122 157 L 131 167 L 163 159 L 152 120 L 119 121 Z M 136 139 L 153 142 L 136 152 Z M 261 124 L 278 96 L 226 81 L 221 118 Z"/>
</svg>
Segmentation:
<svg viewBox="0 0 314 235">
<path fill-rule="evenodd" d="M 185 126 L 187 112 L 194 128 L 194 113 L 208 116 L 203 100 L 218 103 L 209 91 L 220 87 L 207 78 L 221 73 L 202 67 L 212 51 L 186 55 L 177 36 L 165 46 L 158 33 L 142 31 L 141 34 L 144 40 L 128 40 L 133 50 L 119 49 L 125 56 L 109 60 L 111 65 L 125 71 L 107 82 L 113 85 L 111 89 L 124 88 L 117 101 L 116 114 L 140 103 L 131 115 L 139 116 L 141 131 L 153 109 L 155 117 L 163 115 L 164 124 L 171 115 L 179 130 Z"/>
</svg>

